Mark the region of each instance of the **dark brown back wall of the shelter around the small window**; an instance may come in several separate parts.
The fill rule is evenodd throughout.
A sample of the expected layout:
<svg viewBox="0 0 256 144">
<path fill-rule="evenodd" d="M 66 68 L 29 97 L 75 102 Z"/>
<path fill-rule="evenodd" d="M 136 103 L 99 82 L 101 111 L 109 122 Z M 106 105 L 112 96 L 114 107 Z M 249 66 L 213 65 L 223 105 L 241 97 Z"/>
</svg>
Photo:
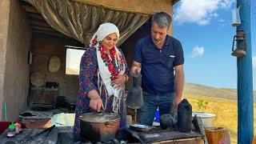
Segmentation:
<svg viewBox="0 0 256 144">
<path fill-rule="evenodd" d="M 58 95 L 65 96 L 69 102 L 76 102 L 78 75 L 65 74 L 65 46 L 82 46 L 82 44 L 72 38 L 60 38 L 45 34 L 33 34 L 32 41 L 34 56 L 31 73 L 40 72 L 46 75 L 46 82 L 58 82 Z M 61 59 L 61 67 L 54 73 L 48 70 L 48 62 L 53 55 L 57 55 Z"/>
</svg>

